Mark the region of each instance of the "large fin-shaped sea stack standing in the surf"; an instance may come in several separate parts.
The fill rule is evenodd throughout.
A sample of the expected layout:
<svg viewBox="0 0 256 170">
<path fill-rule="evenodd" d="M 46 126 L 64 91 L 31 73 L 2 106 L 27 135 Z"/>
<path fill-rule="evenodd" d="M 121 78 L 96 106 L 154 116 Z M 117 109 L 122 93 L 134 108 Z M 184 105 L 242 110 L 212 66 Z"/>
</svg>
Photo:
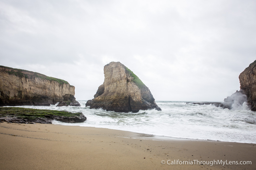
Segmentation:
<svg viewBox="0 0 256 170">
<path fill-rule="evenodd" d="M 125 113 L 147 109 L 161 111 L 147 86 L 122 63 L 105 65 L 104 76 L 104 83 L 99 86 L 94 99 L 86 103 L 90 109 Z"/>
</svg>

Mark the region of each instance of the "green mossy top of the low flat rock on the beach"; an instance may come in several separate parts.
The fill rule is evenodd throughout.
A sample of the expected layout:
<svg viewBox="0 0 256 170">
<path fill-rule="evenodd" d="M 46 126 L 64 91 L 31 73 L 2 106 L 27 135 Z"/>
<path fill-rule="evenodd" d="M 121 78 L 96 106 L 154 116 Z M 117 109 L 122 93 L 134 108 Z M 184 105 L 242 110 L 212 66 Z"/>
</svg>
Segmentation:
<svg viewBox="0 0 256 170">
<path fill-rule="evenodd" d="M 16 117 L 24 118 L 28 120 L 35 120 L 36 118 L 45 118 L 47 116 L 80 116 L 82 113 L 71 113 L 67 111 L 57 110 L 41 110 L 41 109 L 29 109 L 19 107 L 0 107 L 0 117 Z"/>
</svg>

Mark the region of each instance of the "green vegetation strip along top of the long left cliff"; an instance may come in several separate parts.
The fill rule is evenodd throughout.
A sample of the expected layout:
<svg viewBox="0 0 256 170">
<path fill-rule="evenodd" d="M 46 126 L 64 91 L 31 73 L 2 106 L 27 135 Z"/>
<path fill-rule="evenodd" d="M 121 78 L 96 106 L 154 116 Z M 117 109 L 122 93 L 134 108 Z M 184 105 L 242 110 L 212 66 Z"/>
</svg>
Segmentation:
<svg viewBox="0 0 256 170">
<path fill-rule="evenodd" d="M 16 75 L 18 77 L 25 77 L 25 78 L 30 78 L 30 79 L 32 79 L 33 77 L 38 77 L 38 78 L 41 78 L 41 79 L 44 79 L 44 80 L 56 81 L 56 82 L 60 83 L 61 85 L 64 84 L 64 83 L 69 84 L 65 80 L 57 79 L 57 78 L 54 78 L 54 77 L 49 77 L 49 76 L 46 76 L 44 74 L 33 72 L 33 71 L 15 69 L 15 68 L 6 67 L 6 66 L 0 66 L 0 67 L 5 68 L 5 69 L 11 69 L 11 71 L 6 71 L 6 72 L 8 74 Z M 26 72 L 28 74 L 25 74 L 24 72 Z"/>
</svg>

